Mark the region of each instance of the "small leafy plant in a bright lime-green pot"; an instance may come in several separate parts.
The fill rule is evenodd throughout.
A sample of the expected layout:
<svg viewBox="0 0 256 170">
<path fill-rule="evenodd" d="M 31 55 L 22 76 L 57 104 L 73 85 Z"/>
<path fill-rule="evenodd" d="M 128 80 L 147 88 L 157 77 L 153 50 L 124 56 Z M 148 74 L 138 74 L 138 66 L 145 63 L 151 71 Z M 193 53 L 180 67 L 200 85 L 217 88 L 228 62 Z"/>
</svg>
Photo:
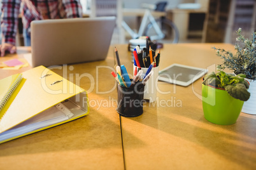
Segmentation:
<svg viewBox="0 0 256 170">
<path fill-rule="evenodd" d="M 244 101 L 250 98 L 244 74 L 227 74 L 222 70 L 206 75 L 202 84 L 203 111 L 206 120 L 215 124 L 234 124 Z"/>
</svg>

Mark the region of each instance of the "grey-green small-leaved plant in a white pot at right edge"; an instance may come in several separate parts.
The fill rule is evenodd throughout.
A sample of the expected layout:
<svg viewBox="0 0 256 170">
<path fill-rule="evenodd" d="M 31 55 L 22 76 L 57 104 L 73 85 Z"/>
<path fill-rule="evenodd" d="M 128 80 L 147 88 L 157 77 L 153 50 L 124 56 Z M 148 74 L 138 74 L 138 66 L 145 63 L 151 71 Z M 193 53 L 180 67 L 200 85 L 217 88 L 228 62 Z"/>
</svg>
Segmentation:
<svg viewBox="0 0 256 170">
<path fill-rule="evenodd" d="M 234 74 L 245 74 L 246 80 L 250 82 L 251 93 L 250 99 L 243 105 L 242 112 L 246 114 L 256 114 L 256 32 L 253 32 L 251 39 L 246 39 L 241 34 L 241 28 L 236 31 L 238 37 L 236 38 L 236 53 L 231 53 L 221 48 L 214 48 L 217 50 L 217 56 L 224 59 L 218 69 L 230 69 Z"/>
</svg>

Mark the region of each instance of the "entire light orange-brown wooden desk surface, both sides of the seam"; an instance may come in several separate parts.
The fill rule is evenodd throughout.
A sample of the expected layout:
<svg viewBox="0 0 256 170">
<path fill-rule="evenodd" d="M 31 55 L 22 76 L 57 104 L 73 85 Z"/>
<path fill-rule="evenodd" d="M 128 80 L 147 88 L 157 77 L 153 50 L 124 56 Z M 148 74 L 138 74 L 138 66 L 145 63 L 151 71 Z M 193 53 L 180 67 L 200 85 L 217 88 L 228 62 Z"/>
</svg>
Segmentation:
<svg viewBox="0 0 256 170">
<path fill-rule="evenodd" d="M 214 69 L 222 60 L 211 49 L 213 46 L 234 49 L 231 44 L 164 44 L 160 70 L 172 63 Z M 117 49 L 120 62 L 132 73 L 127 45 L 117 45 Z M 10 57 L 22 56 L 24 50 L 18 48 L 18 55 Z M 0 58 L 0 62 L 5 59 Z M 89 99 L 94 101 L 90 103 L 89 115 L 1 144 L 0 167 L 124 169 L 125 163 L 126 169 L 255 169 L 255 115 L 241 113 L 231 126 L 206 121 L 201 100 L 197 98 L 201 95 L 201 80 L 197 80 L 186 88 L 158 82 L 161 91 L 170 92 L 157 93 L 159 101 L 168 101 L 168 106 L 146 103 L 139 117 L 120 118 L 115 111 L 115 81 L 110 74 L 114 62 L 111 47 L 104 61 L 53 70 L 60 75 L 68 70 L 69 81 L 89 91 Z M 0 72 L 1 78 L 12 74 Z M 98 78 L 98 83 L 91 85 L 88 77 L 75 78 L 85 73 L 95 80 Z M 97 101 L 103 101 L 103 107 Z"/>
</svg>

